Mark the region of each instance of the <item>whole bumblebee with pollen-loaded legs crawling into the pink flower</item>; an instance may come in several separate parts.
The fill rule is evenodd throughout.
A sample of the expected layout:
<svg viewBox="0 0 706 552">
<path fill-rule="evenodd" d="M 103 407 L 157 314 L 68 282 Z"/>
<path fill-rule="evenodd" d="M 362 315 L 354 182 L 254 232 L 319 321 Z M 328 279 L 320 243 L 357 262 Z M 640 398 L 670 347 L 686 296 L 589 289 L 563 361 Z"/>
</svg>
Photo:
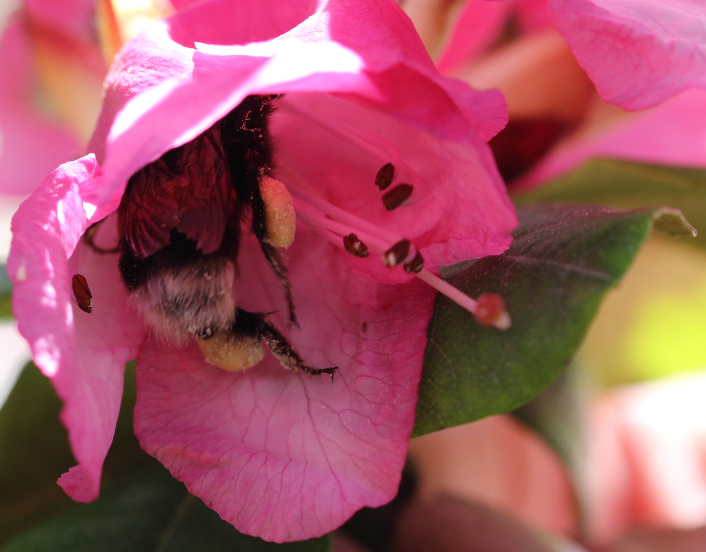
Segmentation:
<svg viewBox="0 0 706 552">
<path fill-rule="evenodd" d="M 200 136 L 131 176 L 118 210 L 119 272 L 152 332 L 177 345 L 195 339 L 211 364 L 249 368 L 263 359 L 264 342 L 285 368 L 333 377 L 337 368 L 306 366 L 266 314 L 237 301 L 238 252 L 249 224 L 282 283 L 290 326 L 297 325 L 277 250 L 292 244 L 295 215 L 284 184 L 271 176 L 275 99 L 246 97 Z"/>
</svg>

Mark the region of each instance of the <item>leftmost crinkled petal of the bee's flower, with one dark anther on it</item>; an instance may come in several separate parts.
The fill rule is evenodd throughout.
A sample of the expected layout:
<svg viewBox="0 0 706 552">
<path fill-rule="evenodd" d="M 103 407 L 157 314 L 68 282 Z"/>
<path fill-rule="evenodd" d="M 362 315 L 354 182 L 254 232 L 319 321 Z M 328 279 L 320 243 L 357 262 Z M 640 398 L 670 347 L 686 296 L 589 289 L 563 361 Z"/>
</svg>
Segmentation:
<svg viewBox="0 0 706 552">
<path fill-rule="evenodd" d="M 81 501 L 98 494 L 124 365 L 136 356 L 142 335 L 140 323 L 126 312 L 115 266 L 96 262 L 100 256 L 85 244 L 77 247 L 88 227 L 81 187 L 98 170 L 95 157 L 88 155 L 47 176 L 13 217 L 8 258 L 18 329 L 30 343 L 35 364 L 52 378 L 64 401 L 61 419 L 79 463 L 59 484 Z M 107 224 L 105 230 L 110 230 Z M 91 315 L 74 304 L 75 273 L 84 275 L 91 287 Z"/>
</svg>

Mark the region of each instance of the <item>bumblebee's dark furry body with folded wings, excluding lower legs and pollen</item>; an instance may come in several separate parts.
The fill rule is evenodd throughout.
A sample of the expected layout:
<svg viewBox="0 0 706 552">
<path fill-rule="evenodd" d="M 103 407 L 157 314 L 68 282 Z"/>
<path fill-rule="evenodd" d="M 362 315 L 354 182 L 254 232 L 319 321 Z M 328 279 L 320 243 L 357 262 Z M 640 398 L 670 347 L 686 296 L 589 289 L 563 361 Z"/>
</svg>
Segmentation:
<svg viewBox="0 0 706 552">
<path fill-rule="evenodd" d="M 249 97 L 128 184 L 119 268 L 131 302 L 157 336 L 183 344 L 234 323 L 244 219 L 251 217 L 258 238 L 265 235 L 259 181 L 272 158 L 270 102 Z"/>
</svg>

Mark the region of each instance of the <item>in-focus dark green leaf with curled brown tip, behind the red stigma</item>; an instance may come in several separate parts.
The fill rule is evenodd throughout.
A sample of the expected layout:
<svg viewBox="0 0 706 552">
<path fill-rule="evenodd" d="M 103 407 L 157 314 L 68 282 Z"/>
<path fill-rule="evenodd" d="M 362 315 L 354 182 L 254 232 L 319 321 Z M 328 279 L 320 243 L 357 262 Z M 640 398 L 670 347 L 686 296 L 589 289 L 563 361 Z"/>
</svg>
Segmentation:
<svg viewBox="0 0 706 552">
<path fill-rule="evenodd" d="M 503 255 L 462 266 L 448 281 L 469 296 L 498 292 L 509 330 L 482 328 L 438 295 L 427 332 L 414 436 L 509 412 L 532 399 L 573 356 L 608 289 L 654 224 L 692 234 L 671 208 L 623 211 L 534 205 Z"/>
</svg>

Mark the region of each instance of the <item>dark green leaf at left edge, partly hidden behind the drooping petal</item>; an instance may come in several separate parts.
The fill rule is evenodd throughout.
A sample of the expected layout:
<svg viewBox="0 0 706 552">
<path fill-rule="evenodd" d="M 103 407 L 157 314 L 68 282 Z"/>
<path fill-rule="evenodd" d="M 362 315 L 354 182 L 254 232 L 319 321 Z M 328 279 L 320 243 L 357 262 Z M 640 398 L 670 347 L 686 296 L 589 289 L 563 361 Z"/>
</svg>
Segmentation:
<svg viewBox="0 0 706 552">
<path fill-rule="evenodd" d="M 133 434 L 135 374 L 128 364 L 120 416 L 103 469 L 103 487 L 159 462 Z M 52 512 L 73 504 L 56 479 L 76 464 L 59 422 L 61 401 L 48 378 L 28 364 L 0 409 L 0 545 Z"/>
</svg>

